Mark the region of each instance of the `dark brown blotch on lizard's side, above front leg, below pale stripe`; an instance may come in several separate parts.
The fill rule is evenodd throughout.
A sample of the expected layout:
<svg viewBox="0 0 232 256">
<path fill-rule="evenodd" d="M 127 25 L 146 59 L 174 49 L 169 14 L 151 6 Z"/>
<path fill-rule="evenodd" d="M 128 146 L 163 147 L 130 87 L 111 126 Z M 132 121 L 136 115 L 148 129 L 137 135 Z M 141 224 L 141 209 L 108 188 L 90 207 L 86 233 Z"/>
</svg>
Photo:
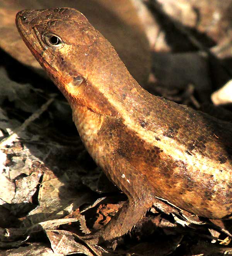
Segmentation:
<svg viewBox="0 0 232 256">
<path fill-rule="evenodd" d="M 162 149 L 147 144 L 135 132 L 122 124 L 120 119 L 107 124 L 107 129 L 113 134 L 111 140 L 117 145 L 114 153 L 123 156 L 131 165 L 148 175 L 150 179 L 157 180 L 157 177 L 163 177 L 166 180 L 165 186 L 169 188 L 170 186 L 174 188 L 176 183 L 181 180 L 182 189 L 180 191 L 193 191 L 195 189 L 196 181 L 191 175 L 188 175 L 186 163 L 176 161 L 170 156 L 163 156 Z M 157 140 L 160 139 L 157 137 Z M 176 168 L 178 168 L 178 173 L 174 173 Z"/>
</svg>

